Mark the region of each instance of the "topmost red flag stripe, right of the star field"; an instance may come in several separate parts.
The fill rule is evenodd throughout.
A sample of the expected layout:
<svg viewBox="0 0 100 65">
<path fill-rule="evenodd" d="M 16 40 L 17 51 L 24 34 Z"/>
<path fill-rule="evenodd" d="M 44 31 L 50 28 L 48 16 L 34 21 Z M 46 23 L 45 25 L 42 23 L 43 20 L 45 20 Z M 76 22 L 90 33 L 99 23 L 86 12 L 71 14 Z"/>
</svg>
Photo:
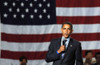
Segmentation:
<svg viewBox="0 0 100 65">
<path fill-rule="evenodd" d="M 56 7 L 99 7 L 100 0 L 56 0 Z"/>
</svg>

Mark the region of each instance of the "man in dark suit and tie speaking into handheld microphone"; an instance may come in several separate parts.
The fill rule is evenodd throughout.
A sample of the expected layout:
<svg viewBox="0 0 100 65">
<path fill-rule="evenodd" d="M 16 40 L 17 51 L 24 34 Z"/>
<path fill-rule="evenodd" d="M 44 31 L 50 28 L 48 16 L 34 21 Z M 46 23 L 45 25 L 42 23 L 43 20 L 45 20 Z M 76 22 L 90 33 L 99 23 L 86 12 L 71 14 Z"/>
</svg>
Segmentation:
<svg viewBox="0 0 100 65">
<path fill-rule="evenodd" d="M 62 37 L 51 41 L 45 60 L 53 65 L 83 65 L 81 43 L 70 37 L 72 24 L 63 23 L 61 31 Z"/>
</svg>

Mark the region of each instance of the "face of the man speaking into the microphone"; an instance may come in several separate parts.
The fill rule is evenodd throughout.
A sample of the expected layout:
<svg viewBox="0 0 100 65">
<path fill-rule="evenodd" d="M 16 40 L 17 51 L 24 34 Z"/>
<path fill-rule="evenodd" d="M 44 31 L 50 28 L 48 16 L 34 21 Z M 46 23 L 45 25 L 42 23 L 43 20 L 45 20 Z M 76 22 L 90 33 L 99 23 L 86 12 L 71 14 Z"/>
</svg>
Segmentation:
<svg viewBox="0 0 100 65">
<path fill-rule="evenodd" d="M 65 38 L 68 38 L 73 30 L 71 29 L 71 26 L 69 24 L 64 24 L 63 27 L 61 28 L 61 31 L 62 31 L 62 35 Z"/>
</svg>

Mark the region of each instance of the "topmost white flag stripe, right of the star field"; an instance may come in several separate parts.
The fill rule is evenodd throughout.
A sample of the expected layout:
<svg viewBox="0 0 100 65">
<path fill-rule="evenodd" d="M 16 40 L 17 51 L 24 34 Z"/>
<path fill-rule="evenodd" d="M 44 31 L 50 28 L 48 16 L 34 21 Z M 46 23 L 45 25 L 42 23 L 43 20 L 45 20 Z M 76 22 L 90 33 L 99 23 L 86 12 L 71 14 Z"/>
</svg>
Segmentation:
<svg viewBox="0 0 100 65">
<path fill-rule="evenodd" d="M 56 16 L 98 16 L 100 7 L 57 7 Z"/>
</svg>

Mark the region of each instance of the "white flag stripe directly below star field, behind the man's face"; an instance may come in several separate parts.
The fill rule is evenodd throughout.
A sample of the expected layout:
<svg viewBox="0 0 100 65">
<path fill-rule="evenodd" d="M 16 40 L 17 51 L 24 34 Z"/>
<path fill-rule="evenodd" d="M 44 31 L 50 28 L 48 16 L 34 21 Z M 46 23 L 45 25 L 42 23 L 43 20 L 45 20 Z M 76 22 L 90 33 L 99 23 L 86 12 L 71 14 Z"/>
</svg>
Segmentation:
<svg viewBox="0 0 100 65">
<path fill-rule="evenodd" d="M 74 24 L 73 33 L 97 33 L 100 32 L 100 24 Z M 10 34 L 52 34 L 52 33 L 61 33 L 61 25 L 6 25 L 2 24 L 1 32 L 10 33 Z"/>
</svg>

